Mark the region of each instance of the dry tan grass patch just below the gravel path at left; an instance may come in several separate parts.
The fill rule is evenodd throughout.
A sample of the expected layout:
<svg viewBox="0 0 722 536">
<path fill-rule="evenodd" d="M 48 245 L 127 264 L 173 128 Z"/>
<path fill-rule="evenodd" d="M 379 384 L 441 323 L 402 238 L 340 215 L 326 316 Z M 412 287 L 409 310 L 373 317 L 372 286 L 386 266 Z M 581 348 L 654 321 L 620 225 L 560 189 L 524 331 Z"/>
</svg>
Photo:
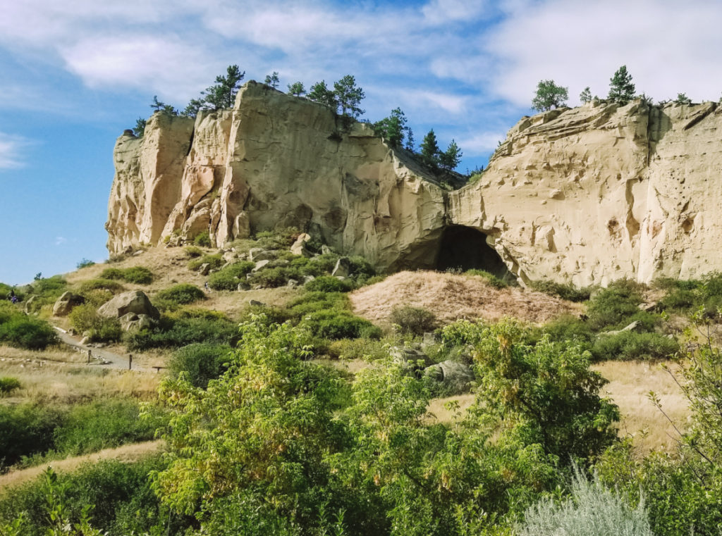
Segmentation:
<svg viewBox="0 0 722 536">
<path fill-rule="evenodd" d="M 156 396 L 160 374 L 108 369 L 84 364 L 76 352 L 30 352 L 0 346 L 0 376 L 19 380 L 22 387 L 3 403 L 77 403 L 107 396 Z"/>
</svg>

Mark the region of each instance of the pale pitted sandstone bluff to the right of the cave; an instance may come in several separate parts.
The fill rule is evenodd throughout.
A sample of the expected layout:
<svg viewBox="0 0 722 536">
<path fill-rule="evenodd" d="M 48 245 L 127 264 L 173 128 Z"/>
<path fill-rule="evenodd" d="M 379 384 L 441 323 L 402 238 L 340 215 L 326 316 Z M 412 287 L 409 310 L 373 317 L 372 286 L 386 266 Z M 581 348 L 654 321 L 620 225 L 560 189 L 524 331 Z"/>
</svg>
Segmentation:
<svg viewBox="0 0 722 536">
<path fill-rule="evenodd" d="M 722 268 L 722 110 L 591 102 L 523 118 L 451 224 L 523 281 L 692 278 Z"/>
</svg>

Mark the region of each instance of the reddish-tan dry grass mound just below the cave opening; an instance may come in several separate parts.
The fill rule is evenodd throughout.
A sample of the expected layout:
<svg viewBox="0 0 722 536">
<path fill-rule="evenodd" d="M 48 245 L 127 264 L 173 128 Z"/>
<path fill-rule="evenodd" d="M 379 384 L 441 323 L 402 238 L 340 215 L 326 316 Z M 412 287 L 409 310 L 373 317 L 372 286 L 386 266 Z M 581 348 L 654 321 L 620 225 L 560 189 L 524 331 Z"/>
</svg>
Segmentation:
<svg viewBox="0 0 722 536">
<path fill-rule="evenodd" d="M 349 298 L 357 315 L 386 326 L 391 310 L 401 305 L 428 309 L 443 323 L 461 318 L 495 322 L 505 316 L 541 323 L 582 311 L 578 304 L 541 292 L 495 289 L 481 276 L 432 271 L 399 272 L 353 291 Z"/>
</svg>

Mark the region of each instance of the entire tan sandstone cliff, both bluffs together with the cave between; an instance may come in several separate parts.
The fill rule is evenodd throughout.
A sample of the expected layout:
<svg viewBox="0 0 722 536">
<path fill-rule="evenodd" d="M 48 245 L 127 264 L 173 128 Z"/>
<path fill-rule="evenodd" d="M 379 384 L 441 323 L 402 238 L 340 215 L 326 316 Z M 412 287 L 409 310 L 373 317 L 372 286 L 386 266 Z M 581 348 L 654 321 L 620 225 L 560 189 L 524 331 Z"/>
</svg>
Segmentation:
<svg viewBox="0 0 722 536">
<path fill-rule="evenodd" d="M 380 270 L 691 278 L 722 269 L 720 133 L 710 102 L 552 110 L 511 128 L 476 183 L 445 192 L 369 126 L 249 82 L 232 110 L 156 113 L 142 139 L 118 138 L 108 249 L 203 231 L 222 247 L 293 226 Z"/>
</svg>

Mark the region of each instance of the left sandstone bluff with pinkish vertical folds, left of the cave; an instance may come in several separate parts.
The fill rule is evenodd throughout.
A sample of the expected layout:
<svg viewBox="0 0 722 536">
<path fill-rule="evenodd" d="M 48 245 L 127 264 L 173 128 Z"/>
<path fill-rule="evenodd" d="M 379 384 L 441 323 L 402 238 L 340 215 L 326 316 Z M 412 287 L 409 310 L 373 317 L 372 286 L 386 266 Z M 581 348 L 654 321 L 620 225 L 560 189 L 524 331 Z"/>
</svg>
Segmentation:
<svg viewBox="0 0 722 536">
<path fill-rule="evenodd" d="M 370 126 L 248 82 L 232 110 L 156 113 L 142 139 L 118 138 L 108 203 L 111 254 L 202 231 L 217 246 L 297 227 L 380 268 L 415 265 L 438 241 L 444 195 Z"/>
</svg>

